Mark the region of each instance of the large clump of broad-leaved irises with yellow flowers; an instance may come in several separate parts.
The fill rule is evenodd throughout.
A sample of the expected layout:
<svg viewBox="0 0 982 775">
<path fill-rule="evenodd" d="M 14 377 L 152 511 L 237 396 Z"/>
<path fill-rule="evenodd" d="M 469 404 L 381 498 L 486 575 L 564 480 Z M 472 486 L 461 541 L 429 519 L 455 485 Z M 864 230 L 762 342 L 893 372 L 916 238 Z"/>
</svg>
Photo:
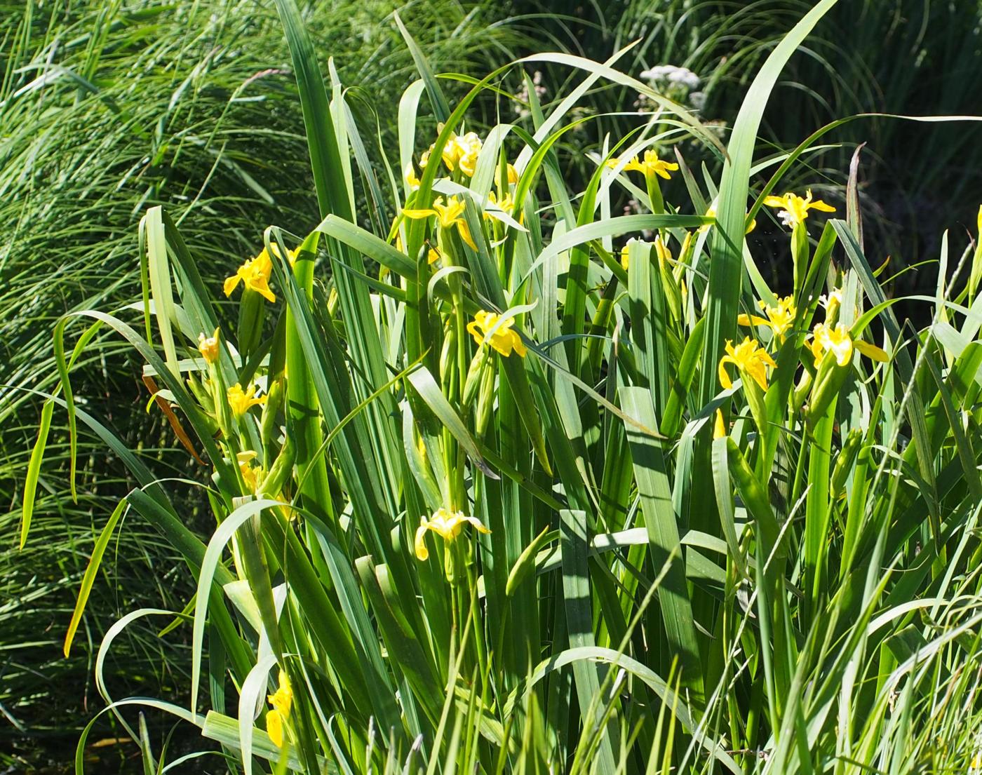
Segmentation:
<svg viewBox="0 0 982 775">
<path fill-rule="evenodd" d="M 398 138 L 375 138 L 278 0 L 319 225 L 271 226 L 223 287 L 152 207 L 144 303 L 56 329 L 49 406 L 138 481 L 97 546 L 132 512 L 197 583 L 188 705 L 99 678 L 118 632 L 175 612 L 134 610 L 100 647 L 148 768 L 166 750 L 136 707 L 246 773 L 978 766 L 982 250 L 958 251 L 911 330 L 857 237 L 854 179 L 829 213 L 784 194 L 803 148 L 755 164 L 832 6 L 763 62 L 714 179 L 673 145 L 716 136 L 616 61 L 537 55 L 450 100 L 409 32 L 419 79 Z M 537 100 L 540 63 L 571 70 L 561 101 Z M 478 95 L 507 107 L 522 80 L 527 118 L 468 134 Z M 573 189 L 555 144 L 605 81 L 661 110 Z M 353 152 L 372 143 L 382 174 Z M 621 191 L 640 213 L 612 214 Z M 746 248 L 762 208 L 788 227 L 784 288 Z M 209 477 L 162 478 L 84 411 L 71 367 L 96 329 L 144 360 Z"/>
</svg>

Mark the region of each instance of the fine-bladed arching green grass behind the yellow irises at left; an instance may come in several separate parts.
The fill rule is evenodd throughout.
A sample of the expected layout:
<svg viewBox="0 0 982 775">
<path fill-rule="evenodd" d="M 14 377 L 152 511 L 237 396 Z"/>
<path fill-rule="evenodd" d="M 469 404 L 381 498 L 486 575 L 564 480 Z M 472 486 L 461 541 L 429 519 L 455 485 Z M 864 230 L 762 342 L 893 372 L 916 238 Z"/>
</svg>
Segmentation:
<svg viewBox="0 0 982 775">
<path fill-rule="evenodd" d="M 384 127 L 412 60 L 398 31 L 375 24 L 389 2 L 306 9 L 320 50 L 339 55 L 359 87 L 358 115 L 371 105 Z M 436 62 L 467 72 L 479 36 L 486 62 L 506 56 L 518 34 L 480 6 L 417 9 L 410 27 Z M 418 27 L 417 27 L 418 25 Z M 253 2 L 0 2 L 0 748 L 30 733 L 82 726 L 94 696 L 88 643 L 97 644 L 136 600 L 181 609 L 193 591 L 175 552 L 133 520 L 110 545 L 80 641 L 61 655 L 85 561 L 104 513 L 133 479 L 97 436 L 79 439 L 79 500 L 67 488 L 69 445 L 56 416 L 41 469 L 31 540 L 21 550 L 25 471 L 37 434 L 37 393 L 58 376 L 51 330 L 60 315 L 115 309 L 139 296 L 136 224 L 165 205 L 181 224 L 201 274 L 220 279 L 247 255 L 264 225 L 308 228 L 316 196 L 301 131 L 289 51 L 275 9 Z M 496 53 L 497 52 L 497 53 Z M 389 132 L 389 136 L 392 132 Z M 377 158 L 373 147 L 367 152 Z M 216 224 L 220 228 L 216 229 Z M 129 348 L 99 334 L 75 376 L 98 415 L 155 471 L 195 476 L 149 397 Z M 209 530 L 197 493 L 182 504 L 186 524 Z M 107 506 L 107 503 L 110 504 Z M 162 641 L 137 623 L 107 664 L 125 692 L 185 686 L 180 637 Z M 161 651 L 161 649 L 166 649 Z M 166 654 L 167 658 L 162 658 Z M 116 661 L 118 660 L 118 661 Z M 144 687 L 140 689 L 140 687 Z M 0 759 L 0 761 L 4 761 Z"/>
</svg>

